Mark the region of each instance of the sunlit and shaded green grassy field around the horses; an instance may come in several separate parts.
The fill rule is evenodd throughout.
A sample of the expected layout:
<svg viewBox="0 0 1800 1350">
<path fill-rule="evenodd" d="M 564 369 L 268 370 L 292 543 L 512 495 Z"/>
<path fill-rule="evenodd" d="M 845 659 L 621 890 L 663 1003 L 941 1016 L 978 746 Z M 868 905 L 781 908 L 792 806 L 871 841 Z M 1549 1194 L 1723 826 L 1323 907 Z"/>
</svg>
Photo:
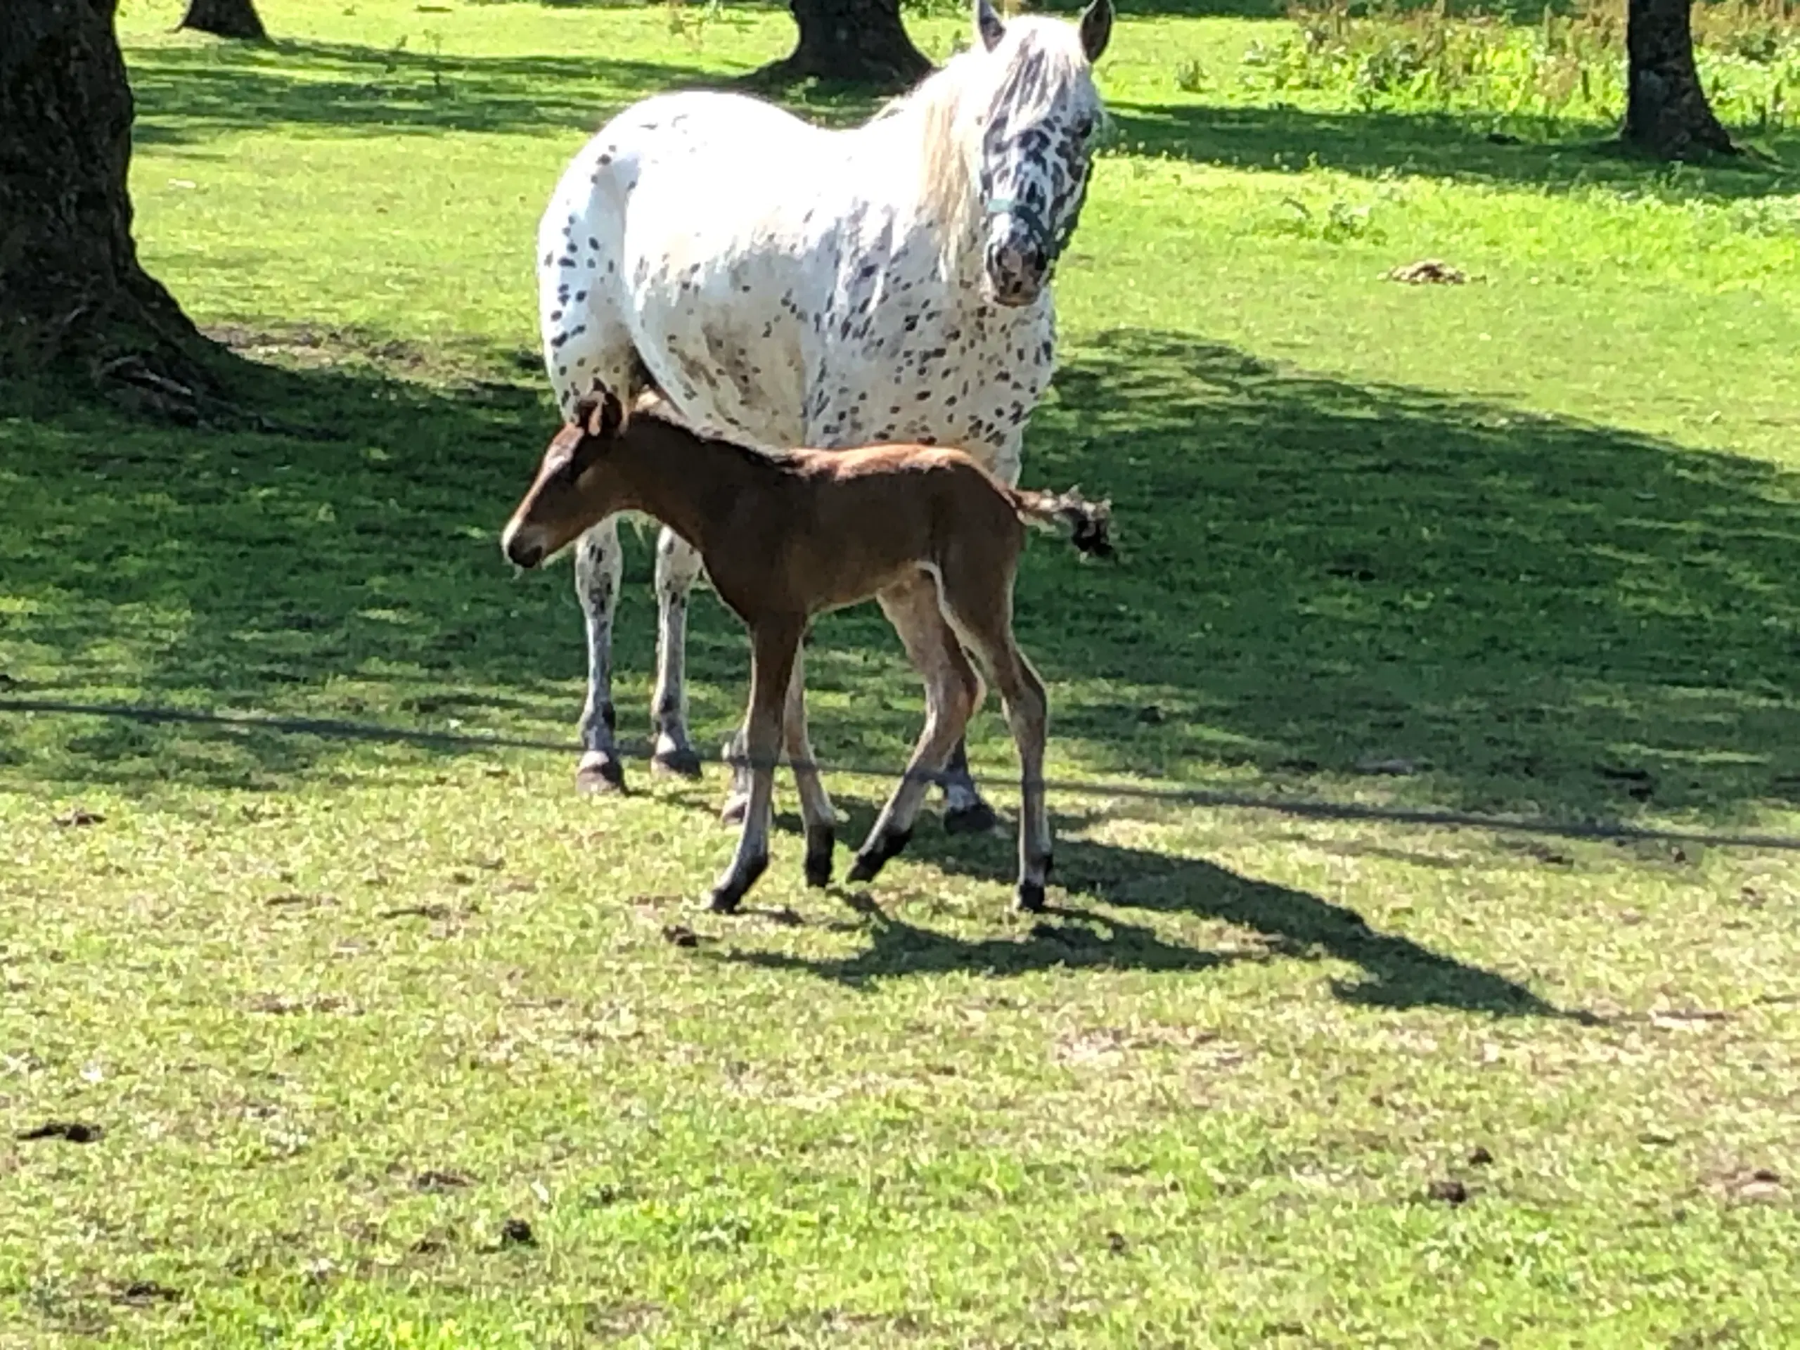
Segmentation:
<svg viewBox="0 0 1800 1350">
<path fill-rule="evenodd" d="M 1019 587 L 1091 785 L 1055 913 L 934 824 L 808 893 L 783 788 L 718 920 L 722 774 L 574 796 L 580 616 L 497 529 L 563 160 L 790 22 L 259 7 L 122 32 L 144 257 L 266 425 L 0 391 L 4 1350 L 1800 1345 L 1782 117 L 1661 169 L 1604 90 L 1274 88 L 1291 23 L 1132 7 L 1024 472 L 1123 554 Z M 745 643 L 693 626 L 716 743 Z M 808 666 L 819 752 L 896 767 L 878 616 Z M 972 754 L 1010 805 L 992 709 Z M 853 833 L 887 783 L 832 787 Z"/>
</svg>

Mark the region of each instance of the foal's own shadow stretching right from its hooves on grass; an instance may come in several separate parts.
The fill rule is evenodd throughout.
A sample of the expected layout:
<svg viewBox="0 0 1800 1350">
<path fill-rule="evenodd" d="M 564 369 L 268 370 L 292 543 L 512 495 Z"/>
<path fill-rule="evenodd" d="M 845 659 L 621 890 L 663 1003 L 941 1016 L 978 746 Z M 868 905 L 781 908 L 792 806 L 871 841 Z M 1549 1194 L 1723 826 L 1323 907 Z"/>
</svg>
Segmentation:
<svg viewBox="0 0 1800 1350">
<path fill-rule="evenodd" d="M 841 839 L 860 841 L 873 810 L 839 803 Z M 1339 959 L 1361 970 L 1357 979 L 1330 981 L 1345 1003 L 1372 1008 L 1454 1008 L 1494 1017 L 1570 1017 L 1591 1022 L 1586 1012 L 1561 1010 L 1523 985 L 1492 970 L 1467 965 L 1420 947 L 1409 938 L 1379 932 L 1354 909 L 1307 891 L 1240 877 L 1211 862 L 1170 857 L 1139 848 L 1071 837 L 1091 821 L 1057 821 L 1057 864 L 1051 886 L 1084 904 L 1051 905 L 1026 938 L 965 940 L 907 923 L 864 889 L 833 891 L 869 920 L 869 945 L 850 958 L 801 958 L 787 952 L 734 952 L 722 959 L 808 974 L 844 985 L 866 985 L 902 976 L 967 970 L 1017 976 L 1051 967 L 1112 970 L 1208 970 L 1242 959 Z M 779 828 L 799 823 L 778 819 Z M 936 830 L 913 837 L 909 857 L 929 860 L 954 877 L 1012 880 L 1012 850 L 1001 862 L 997 841 L 959 839 Z M 1006 900 L 1010 904 L 1010 898 Z M 1125 920 L 1118 911 L 1141 911 L 1220 920 L 1260 934 L 1260 950 L 1213 952 L 1161 936 L 1150 923 Z M 999 914 L 995 914 L 999 918 Z"/>
</svg>

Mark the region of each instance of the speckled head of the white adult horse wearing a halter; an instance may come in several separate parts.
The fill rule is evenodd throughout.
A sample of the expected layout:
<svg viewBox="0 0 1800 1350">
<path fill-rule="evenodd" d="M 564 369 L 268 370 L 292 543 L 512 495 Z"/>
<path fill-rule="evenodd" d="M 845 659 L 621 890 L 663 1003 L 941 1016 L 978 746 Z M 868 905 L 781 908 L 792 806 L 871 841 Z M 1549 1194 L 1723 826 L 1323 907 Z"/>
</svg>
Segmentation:
<svg viewBox="0 0 1800 1350">
<path fill-rule="evenodd" d="M 1075 234 L 1100 128 L 1093 65 L 1112 36 L 1112 0 L 1080 23 L 1015 18 L 976 0 L 976 36 L 1001 61 L 979 149 L 983 274 L 1001 304 L 1031 304 Z"/>
</svg>

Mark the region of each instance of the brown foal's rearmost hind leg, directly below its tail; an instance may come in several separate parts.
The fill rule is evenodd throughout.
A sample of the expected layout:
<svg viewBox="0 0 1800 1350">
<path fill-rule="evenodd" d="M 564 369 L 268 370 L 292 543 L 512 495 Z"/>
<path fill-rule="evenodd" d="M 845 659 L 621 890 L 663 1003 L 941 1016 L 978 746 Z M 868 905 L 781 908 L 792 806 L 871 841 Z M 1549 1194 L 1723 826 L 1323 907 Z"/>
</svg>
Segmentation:
<svg viewBox="0 0 1800 1350">
<path fill-rule="evenodd" d="M 1006 725 L 1019 747 L 1019 909 L 1044 907 L 1049 880 L 1049 808 L 1044 803 L 1044 738 L 1049 707 L 1044 682 L 1012 634 L 1012 576 L 968 569 L 949 574 L 943 608 L 958 637 L 986 668 L 1006 707 Z"/>
</svg>

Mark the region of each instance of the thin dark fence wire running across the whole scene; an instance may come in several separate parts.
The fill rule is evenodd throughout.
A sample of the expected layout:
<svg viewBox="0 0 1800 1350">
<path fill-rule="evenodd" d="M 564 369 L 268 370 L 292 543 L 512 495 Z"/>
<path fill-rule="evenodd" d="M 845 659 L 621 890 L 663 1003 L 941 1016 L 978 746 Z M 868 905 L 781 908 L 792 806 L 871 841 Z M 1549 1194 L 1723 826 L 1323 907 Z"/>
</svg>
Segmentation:
<svg viewBox="0 0 1800 1350">
<path fill-rule="evenodd" d="M 286 736 L 320 736 L 326 740 L 385 742 L 396 745 L 425 745 L 441 749 L 500 749 L 500 751 L 553 751 L 556 754 L 576 754 L 578 745 L 565 740 L 542 736 L 508 736 L 466 733 L 466 731 L 425 731 L 414 727 L 391 727 L 374 722 L 351 722 L 346 718 L 322 716 L 286 716 L 277 713 L 234 713 L 198 707 L 164 707 L 155 704 L 83 704 L 58 698 L 0 698 L 0 716 L 25 713 L 52 713 L 65 716 L 101 716 L 121 718 L 144 724 L 191 724 L 216 727 L 221 731 L 247 733 L 263 731 Z M 652 747 L 648 742 L 625 742 L 619 745 L 621 758 L 648 760 Z M 742 765 L 743 756 L 698 752 L 702 763 Z M 787 763 L 783 760 L 781 763 Z M 805 767 L 805 765 L 803 765 Z M 907 778 L 905 770 L 882 769 L 859 763 L 812 765 L 821 774 L 835 778 L 880 778 L 887 781 Z M 931 783 L 947 781 L 947 774 L 920 770 L 916 778 Z M 1534 833 L 1561 839 L 1597 839 L 1622 842 L 1669 842 L 1703 844 L 1710 848 L 1764 848 L 1800 853 L 1800 837 L 1733 833 L 1721 830 L 1681 830 L 1665 826 L 1625 824 L 1624 821 L 1557 821 L 1539 815 L 1505 815 L 1489 812 L 1465 812 L 1436 806 L 1382 806 L 1361 801 L 1327 801 L 1319 797 L 1283 797 L 1262 796 L 1255 792 L 1233 792 L 1228 788 L 1208 788 L 1193 783 L 1170 783 L 1152 787 L 1139 783 L 1105 783 L 1098 779 L 1049 778 L 1044 790 L 1058 796 L 1082 797 L 1125 797 L 1132 801 L 1150 801 L 1174 806 L 1211 806 L 1238 810 L 1265 810 L 1280 815 L 1294 815 L 1312 821 L 1375 821 L 1386 824 L 1436 824 L 1463 826 L 1471 830 L 1492 830 L 1499 833 Z"/>
</svg>

